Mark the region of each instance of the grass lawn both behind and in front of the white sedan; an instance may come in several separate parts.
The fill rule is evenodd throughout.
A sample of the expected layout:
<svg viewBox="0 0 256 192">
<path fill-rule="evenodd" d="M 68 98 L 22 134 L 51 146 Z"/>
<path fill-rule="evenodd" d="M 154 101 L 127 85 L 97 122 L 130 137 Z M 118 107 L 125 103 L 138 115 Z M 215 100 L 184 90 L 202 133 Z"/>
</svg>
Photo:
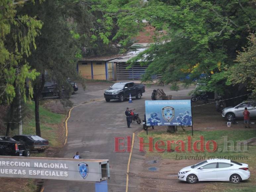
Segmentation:
<svg viewBox="0 0 256 192">
<path fill-rule="evenodd" d="M 248 145 L 248 150 L 246 147 L 241 145 L 241 150 L 237 150 L 237 142 L 241 140 L 247 140 L 249 138 L 256 136 L 255 129 L 247 129 L 247 130 L 213 130 L 213 131 L 194 131 L 193 137 L 191 137 L 191 152 L 188 152 L 188 136 L 191 136 L 191 131 L 178 131 L 174 134 L 166 133 L 163 130 L 150 130 L 148 135 L 146 135 L 145 131 L 142 131 L 138 134 L 138 137 L 143 137 L 143 143 L 149 142 L 149 137 L 153 138 L 153 146 L 158 140 L 163 140 L 165 146 L 160 146 L 160 149 L 165 149 L 164 152 L 157 152 L 155 147 L 153 147 L 153 152 L 149 151 L 148 145 L 145 146 L 144 150 L 147 152 L 146 155 L 148 157 L 160 157 L 163 159 L 170 160 L 195 160 L 202 161 L 198 159 L 198 157 L 205 157 L 205 159 L 211 158 L 221 158 L 221 159 L 231 159 L 237 162 L 246 163 L 249 165 L 249 170 L 251 172 L 251 177 L 247 181 L 243 181 L 240 184 L 232 184 L 229 182 L 209 182 L 206 185 L 203 191 L 256 191 L 256 146 Z M 196 140 L 200 140 L 200 136 L 204 138 L 203 149 L 204 152 L 195 152 L 193 150 L 193 143 Z M 234 149 L 235 151 L 231 151 L 230 143 L 227 145 L 227 149 L 224 151 L 224 137 L 227 137 L 228 141 L 234 141 Z M 174 141 L 171 143 L 171 152 L 167 151 L 167 141 Z M 177 150 L 181 150 L 181 142 L 184 142 L 184 151 L 176 152 Z M 209 150 L 206 149 L 206 142 L 209 140 L 214 140 L 217 143 L 217 149 L 214 152 L 208 152 L 209 150 L 213 150 L 213 144 L 210 144 Z M 160 142 L 158 142 L 160 143 Z M 200 149 L 200 143 L 197 144 L 197 148 Z M 220 150 L 221 148 L 221 150 Z M 176 150 L 176 151 L 173 151 Z M 188 159 L 190 157 L 190 159 Z M 192 164 L 191 164 L 192 165 Z"/>
</svg>

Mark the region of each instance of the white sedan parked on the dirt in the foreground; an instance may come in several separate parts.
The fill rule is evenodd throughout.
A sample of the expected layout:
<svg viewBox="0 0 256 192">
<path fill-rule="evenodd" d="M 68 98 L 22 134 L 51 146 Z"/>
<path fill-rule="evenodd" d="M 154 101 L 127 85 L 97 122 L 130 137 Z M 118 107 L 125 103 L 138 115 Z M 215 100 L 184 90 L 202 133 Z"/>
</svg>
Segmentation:
<svg viewBox="0 0 256 192">
<path fill-rule="evenodd" d="M 202 161 L 196 165 L 180 169 L 178 178 L 188 183 L 197 181 L 230 181 L 239 183 L 250 177 L 248 165 L 226 159 Z"/>
</svg>

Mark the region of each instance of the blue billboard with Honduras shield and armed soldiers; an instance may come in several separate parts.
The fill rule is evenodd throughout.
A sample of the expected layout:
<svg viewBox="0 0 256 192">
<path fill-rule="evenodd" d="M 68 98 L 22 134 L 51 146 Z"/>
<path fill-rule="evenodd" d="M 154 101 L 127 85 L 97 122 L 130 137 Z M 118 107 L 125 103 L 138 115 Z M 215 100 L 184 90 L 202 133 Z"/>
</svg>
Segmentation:
<svg viewBox="0 0 256 192">
<path fill-rule="evenodd" d="M 191 125 L 190 100 L 145 101 L 146 124 L 152 125 Z"/>
</svg>

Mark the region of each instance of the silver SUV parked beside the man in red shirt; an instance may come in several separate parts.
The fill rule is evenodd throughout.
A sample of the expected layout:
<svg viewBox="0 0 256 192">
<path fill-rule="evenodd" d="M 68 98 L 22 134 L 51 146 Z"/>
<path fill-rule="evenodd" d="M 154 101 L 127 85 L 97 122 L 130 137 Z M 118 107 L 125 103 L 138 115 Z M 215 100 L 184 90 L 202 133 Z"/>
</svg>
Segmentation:
<svg viewBox="0 0 256 192">
<path fill-rule="evenodd" d="M 250 112 L 250 117 L 256 117 L 256 101 L 244 101 L 235 107 L 226 107 L 222 110 L 222 117 L 228 121 L 235 118 L 243 118 L 244 108 Z"/>
</svg>

